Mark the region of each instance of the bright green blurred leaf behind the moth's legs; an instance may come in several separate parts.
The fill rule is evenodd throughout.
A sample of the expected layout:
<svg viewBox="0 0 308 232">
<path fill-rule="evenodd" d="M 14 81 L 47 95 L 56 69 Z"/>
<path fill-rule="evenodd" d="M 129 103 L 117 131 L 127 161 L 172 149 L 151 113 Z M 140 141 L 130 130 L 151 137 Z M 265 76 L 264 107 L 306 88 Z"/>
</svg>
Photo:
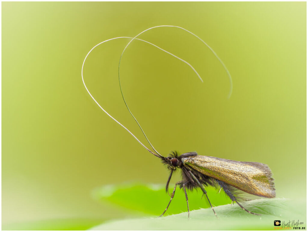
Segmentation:
<svg viewBox="0 0 308 232">
<path fill-rule="evenodd" d="M 173 191 L 173 186 L 170 187 L 170 194 Z M 209 199 L 214 206 L 225 205 L 231 203 L 231 200 L 226 197 L 225 193 L 217 193 L 217 190 L 208 187 L 206 188 Z M 210 205 L 206 197 L 202 197 L 201 191 L 187 191 L 189 209 L 209 208 Z M 100 201 L 111 202 L 126 209 L 143 212 L 148 215 L 158 216 L 163 213 L 168 202 L 169 195 L 165 191 L 163 185 L 142 185 L 142 184 L 126 184 L 126 185 L 108 185 L 102 188 L 95 189 L 93 192 L 95 199 Z M 202 199 L 201 199 L 202 197 Z M 166 215 L 175 213 L 187 212 L 187 204 L 183 190 L 177 188 L 175 197 L 169 206 Z"/>
</svg>

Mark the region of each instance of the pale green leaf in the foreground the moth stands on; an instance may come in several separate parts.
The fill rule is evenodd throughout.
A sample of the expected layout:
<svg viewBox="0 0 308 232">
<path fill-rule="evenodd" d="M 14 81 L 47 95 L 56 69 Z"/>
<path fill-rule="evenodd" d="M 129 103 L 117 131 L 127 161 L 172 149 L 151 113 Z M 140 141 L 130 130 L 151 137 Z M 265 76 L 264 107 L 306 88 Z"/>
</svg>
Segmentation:
<svg viewBox="0 0 308 232">
<path fill-rule="evenodd" d="M 155 205 L 156 201 L 152 201 Z M 274 220 L 288 223 L 293 230 L 294 222 L 303 222 L 306 228 L 306 199 L 261 199 L 247 201 L 244 207 L 261 216 L 249 214 L 237 204 L 215 207 L 218 218 L 212 209 L 193 210 L 190 218 L 187 213 L 167 217 L 137 218 L 110 221 L 95 226 L 91 230 L 274 230 Z"/>
</svg>

